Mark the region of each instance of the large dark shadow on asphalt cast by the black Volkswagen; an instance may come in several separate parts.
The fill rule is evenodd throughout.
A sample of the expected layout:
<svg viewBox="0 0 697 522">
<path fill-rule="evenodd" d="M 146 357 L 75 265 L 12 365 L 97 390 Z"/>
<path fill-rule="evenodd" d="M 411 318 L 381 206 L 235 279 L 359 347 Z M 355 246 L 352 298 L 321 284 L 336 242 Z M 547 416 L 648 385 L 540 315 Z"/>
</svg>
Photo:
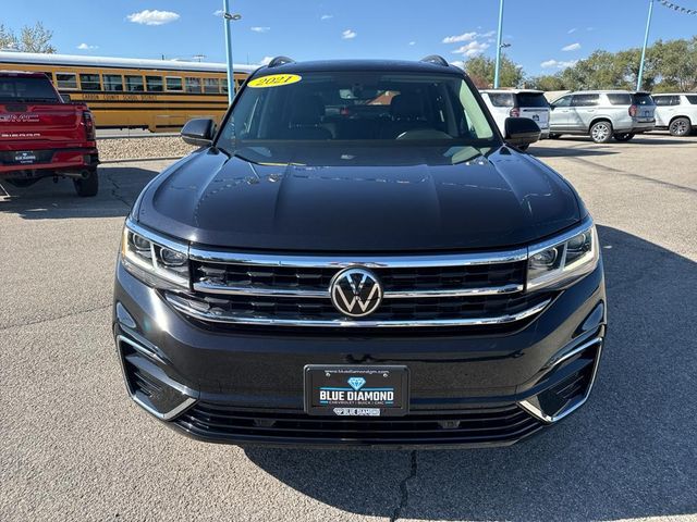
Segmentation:
<svg viewBox="0 0 697 522">
<path fill-rule="evenodd" d="M 697 263 L 600 226 L 609 333 L 577 413 L 509 448 L 252 449 L 289 486 L 352 513 L 599 520 L 697 513 Z"/>
</svg>

